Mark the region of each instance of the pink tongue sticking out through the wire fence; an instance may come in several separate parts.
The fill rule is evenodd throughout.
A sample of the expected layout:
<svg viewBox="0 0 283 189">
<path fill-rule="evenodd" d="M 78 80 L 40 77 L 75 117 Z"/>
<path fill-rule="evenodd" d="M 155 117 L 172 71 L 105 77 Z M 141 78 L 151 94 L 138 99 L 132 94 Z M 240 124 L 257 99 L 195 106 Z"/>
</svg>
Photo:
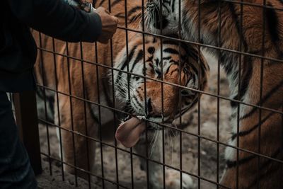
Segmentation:
<svg viewBox="0 0 283 189">
<path fill-rule="evenodd" d="M 122 122 L 117 128 L 115 137 L 124 147 L 134 147 L 139 141 L 139 136 L 146 129 L 145 122 L 138 118 L 131 118 L 126 122 Z"/>
</svg>

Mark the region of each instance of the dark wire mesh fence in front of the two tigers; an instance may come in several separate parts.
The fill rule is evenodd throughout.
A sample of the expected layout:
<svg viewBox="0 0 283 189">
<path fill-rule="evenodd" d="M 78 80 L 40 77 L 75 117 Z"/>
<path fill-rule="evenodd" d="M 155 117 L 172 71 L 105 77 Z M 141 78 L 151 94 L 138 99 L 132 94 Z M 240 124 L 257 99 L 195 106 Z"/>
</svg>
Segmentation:
<svg viewBox="0 0 283 189">
<path fill-rule="evenodd" d="M 50 174 L 81 188 L 282 188 L 281 1 L 92 4 L 119 18 L 107 45 L 33 32 Z M 125 148 L 115 132 L 132 117 L 146 129 Z"/>
</svg>

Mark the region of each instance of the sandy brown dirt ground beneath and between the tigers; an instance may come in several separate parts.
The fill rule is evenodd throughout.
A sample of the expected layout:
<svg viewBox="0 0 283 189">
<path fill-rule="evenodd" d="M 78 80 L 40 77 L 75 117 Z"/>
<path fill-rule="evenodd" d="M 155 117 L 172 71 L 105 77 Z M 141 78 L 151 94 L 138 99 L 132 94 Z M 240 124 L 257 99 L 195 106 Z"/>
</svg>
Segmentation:
<svg viewBox="0 0 283 189">
<path fill-rule="evenodd" d="M 211 68 L 211 74 L 209 79 L 209 92 L 217 93 L 217 62 L 212 61 L 209 58 L 209 66 Z M 226 76 L 221 71 L 220 79 L 220 94 L 221 96 L 229 96 L 229 86 L 226 80 Z M 229 115 L 231 112 L 229 101 L 219 100 L 219 139 L 221 142 L 227 142 L 230 136 L 229 127 Z M 197 134 L 198 132 L 198 113 L 195 110 L 192 113 L 192 120 L 190 124 L 185 127 L 185 131 Z M 48 154 L 48 141 L 50 143 L 50 154 L 55 159 L 60 159 L 58 156 L 59 144 L 54 127 L 49 127 L 49 139 L 47 139 L 47 127 L 46 125 L 40 125 L 40 144 L 41 151 Z M 217 98 L 212 96 L 202 96 L 200 102 L 200 134 L 203 137 L 209 139 L 216 139 L 217 137 Z M 171 139 L 166 139 L 166 164 L 180 167 L 180 147 L 179 137 L 174 137 L 173 142 Z M 182 159 L 183 170 L 195 174 L 198 174 L 198 147 L 199 139 L 190 134 L 182 135 Z M 173 143 L 173 145 L 172 145 Z M 112 144 L 112 142 L 110 142 Z M 118 145 L 123 148 L 122 145 Z M 200 139 L 200 176 L 210 181 L 216 181 L 216 165 L 217 165 L 217 144 L 215 142 L 209 142 L 207 139 Z M 224 147 L 219 145 L 219 178 L 224 168 Z M 131 188 L 131 159 L 128 153 L 117 150 L 118 157 L 118 176 L 119 182 L 122 185 Z M 75 177 L 64 173 L 64 182 L 62 181 L 62 167 L 57 161 L 51 161 L 46 156 L 42 156 L 42 165 L 44 171 L 41 176 L 37 177 L 40 188 L 76 188 Z M 51 170 L 50 170 L 51 168 Z M 110 181 L 116 181 L 116 166 L 115 166 L 115 150 L 112 147 L 103 146 L 103 169 L 105 178 Z M 52 173 L 52 176 L 50 176 Z M 101 160 L 100 160 L 100 148 L 96 151 L 96 173 L 101 175 Z M 134 188 L 146 188 L 146 173 L 141 171 L 139 166 L 139 160 L 137 156 L 133 156 L 133 175 L 134 175 Z M 192 177 L 193 178 L 193 177 Z M 193 178 L 195 188 L 198 187 L 197 178 Z M 114 185 L 105 182 L 105 188 L 115 188 Z M 89 188 L 88 182 L 78 178 L 77 185 L 79 188 Z M 101 182 L 91 184 L 91 188 L 101 188 Z M 117 188 L 117 187 L 116 187 Z M 216 186 L 207 181 L 200 180 L 200 188 L 210 189 L 216 188 Z"/>
</svg>

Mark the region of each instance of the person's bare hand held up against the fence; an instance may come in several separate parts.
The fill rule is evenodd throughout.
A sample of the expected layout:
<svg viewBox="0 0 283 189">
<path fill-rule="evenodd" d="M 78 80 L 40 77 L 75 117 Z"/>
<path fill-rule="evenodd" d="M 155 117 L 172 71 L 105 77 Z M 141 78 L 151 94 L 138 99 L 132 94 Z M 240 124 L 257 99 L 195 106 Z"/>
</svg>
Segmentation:
<svg viewBox="0 0 283 189">
<path fill-rule="evenodd" d="M 118 18 L 111 16 L 109 11 L 103 7 L 98 7 L 94 12 L 100 16 L 102 24 L 102 31 L 98 37 L 98 42 L 107 43 L 117 30 Z"/>
</svg>

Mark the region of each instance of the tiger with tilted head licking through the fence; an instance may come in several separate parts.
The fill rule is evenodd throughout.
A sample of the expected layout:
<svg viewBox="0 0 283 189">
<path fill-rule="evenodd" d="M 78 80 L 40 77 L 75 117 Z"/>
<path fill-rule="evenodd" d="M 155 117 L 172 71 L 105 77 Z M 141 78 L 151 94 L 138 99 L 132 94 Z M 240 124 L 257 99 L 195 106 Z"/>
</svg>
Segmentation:
<svg viewBox="0 0 283 189">
<path fill-rule="evenodd" d="M 137 1 L 127 3 L 127 23 L 124 1 L 113 1 L 108 7 L 108 1 L 101 0 L 93 6 L 111 7 L 121 27 L 137 29 L 141 25 L 141 4 Z M 35 66 L 37 86 L 42 89 L 41 98 L 54 101 L 50 111 L 54 115 L 47 117 L 60 128 L 57 135 L 62 143 L 59 156 L 66 163 L 64 171 L 86 180 L 91 179 L 88 171 L 94 169 L 101 128 L 110 128 L 127 119 L 125 111 L 128 115 L 144 116 L 148 121 L 164 120 L 171 124 L 197 103 L 199 95 L 190 89 L 207 88 L 208 64 L 202 55 L 197 58 L 197 49 L 190 45 L 166 39 L 161 42 L 160 38 L 130 31 L 126 35 L 125 30 L 117 30 L 106 45 L 67 43 L 36 31 L 33 35 L 40 47 Z M 103 64 L 98 66 L 96 62 Z M 179 90 L 179 86 L 184 88 Z M 161 136 L 160 126 L 149 123 L 148 139 L 143 134 L 134 150 L 145 157 L 149 146 L 150 158 L 161 162 L 162 148 L 158 147 L 162 144 L 161 137 L 156 138 L 155 147 L 148 144 L 156 132 Z M 146 159 L 140 160 L 145 171 L 149 168 L 150 186 L 163 188 L 163 166 L 153 161 L 146 166 Z M 180 188 L 181 184 L 183 188 L 192 188 L 192 178 L 183 173 L 180 183 L 180 174 L 166 169 L 166 188 Z"/>
</svg>

